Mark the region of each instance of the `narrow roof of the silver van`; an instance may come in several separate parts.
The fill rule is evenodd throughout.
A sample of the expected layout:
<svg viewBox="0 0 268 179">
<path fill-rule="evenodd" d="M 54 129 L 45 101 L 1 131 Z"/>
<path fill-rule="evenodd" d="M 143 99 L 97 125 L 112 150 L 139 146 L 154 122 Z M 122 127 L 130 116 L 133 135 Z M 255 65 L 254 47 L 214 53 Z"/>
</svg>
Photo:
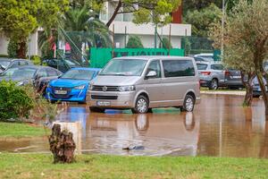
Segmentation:
<svg viewBox="0 0 268 179">
<path fill-rule="evenodd" d="M 137 56 L 121 56 L 116 57 L 113 59 L 138 59 L 138 60 L 165 60 L 165 59 L 171 59 L 171 60 L 193 60 L 192 57 L 188 56 L 170 56 L 170 55 L 137 55 Z"/>
</svg>

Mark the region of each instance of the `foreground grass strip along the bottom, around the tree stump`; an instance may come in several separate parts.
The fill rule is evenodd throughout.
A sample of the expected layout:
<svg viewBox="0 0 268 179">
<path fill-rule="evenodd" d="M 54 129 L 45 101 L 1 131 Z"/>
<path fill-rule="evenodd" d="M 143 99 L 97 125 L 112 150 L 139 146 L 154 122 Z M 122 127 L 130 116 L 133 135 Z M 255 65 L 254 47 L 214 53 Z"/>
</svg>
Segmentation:
<svg viewBox="0 0 268 179">
<path fill-rule="evenodd" d="M 82 155 L 52 164 L 48 154 L 0 154 L 0 178 L 267 178 L 268 160 Z"/>
</svg>

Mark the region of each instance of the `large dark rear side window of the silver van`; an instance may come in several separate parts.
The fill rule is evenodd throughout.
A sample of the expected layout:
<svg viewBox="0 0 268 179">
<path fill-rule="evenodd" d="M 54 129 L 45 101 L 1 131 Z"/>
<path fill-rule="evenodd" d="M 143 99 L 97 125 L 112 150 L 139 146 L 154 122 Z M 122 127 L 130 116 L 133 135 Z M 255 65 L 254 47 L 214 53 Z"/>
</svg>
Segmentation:
<svg viewBox="0 0 268 179">
<path fill-rule="evenodd" d="M 195 67 L 190 60 L 163 60 L 164 77 L 195 76 Z"/>
</svg>

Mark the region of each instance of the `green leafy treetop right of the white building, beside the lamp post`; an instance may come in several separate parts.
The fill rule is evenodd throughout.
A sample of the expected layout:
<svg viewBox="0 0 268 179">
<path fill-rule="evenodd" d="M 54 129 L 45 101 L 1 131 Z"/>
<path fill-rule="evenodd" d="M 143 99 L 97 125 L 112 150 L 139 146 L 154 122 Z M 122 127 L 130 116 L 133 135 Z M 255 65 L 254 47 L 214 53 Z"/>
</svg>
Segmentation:
<svg viewBox="0 0 268 179">
<path fill-rule="evenodd" d="M 222 20 L 222 11 L 215 4 L 210 4 L 202 10 L 188 11 L 184 21 L 192 25 L 192 35 L 207 37 L 209 27 Z"/>
</svg>

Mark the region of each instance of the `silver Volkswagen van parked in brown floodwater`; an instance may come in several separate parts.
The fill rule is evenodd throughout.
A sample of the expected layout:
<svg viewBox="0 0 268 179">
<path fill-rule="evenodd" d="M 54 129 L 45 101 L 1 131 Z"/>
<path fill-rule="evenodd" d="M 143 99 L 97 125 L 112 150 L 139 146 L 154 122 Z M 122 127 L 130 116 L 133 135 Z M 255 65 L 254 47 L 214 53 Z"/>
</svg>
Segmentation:
<svg viewBox="0 0 268 179">
<path fill-rule="evenodd" d="M 127 56 L 113 58 L 90 83 L 91 111 L 129 108 L 133 113 L 155 107 L 193 111 L 200 102 L 197 65 L 179 56 Z"/>
</svg>

